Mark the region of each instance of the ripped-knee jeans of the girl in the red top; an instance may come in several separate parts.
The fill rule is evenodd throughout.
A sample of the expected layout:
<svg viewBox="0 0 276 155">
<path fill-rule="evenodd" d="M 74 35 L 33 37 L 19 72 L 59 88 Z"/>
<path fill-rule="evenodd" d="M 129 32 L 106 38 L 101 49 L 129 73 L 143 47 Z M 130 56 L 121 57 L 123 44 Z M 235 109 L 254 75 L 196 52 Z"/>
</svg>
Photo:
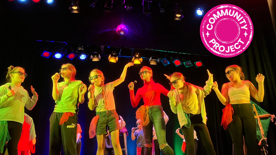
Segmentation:
<svg viewBox="0 0 276 155">
<path fill-rule="evenodd" d="M 143 132 L 145 136 L 145 155 L 151 155 L 152 147 L 147 145 L 152 144 L 152 128 L 154 125 L 158 143 L 160 149 L 163 150 L 166 155 L 174 155 L 173 150 L 166 142 L 166 124 L 164 120 L 162 105 L 149 106 L 149 124 L 143 126 Z"/>
</svg>

